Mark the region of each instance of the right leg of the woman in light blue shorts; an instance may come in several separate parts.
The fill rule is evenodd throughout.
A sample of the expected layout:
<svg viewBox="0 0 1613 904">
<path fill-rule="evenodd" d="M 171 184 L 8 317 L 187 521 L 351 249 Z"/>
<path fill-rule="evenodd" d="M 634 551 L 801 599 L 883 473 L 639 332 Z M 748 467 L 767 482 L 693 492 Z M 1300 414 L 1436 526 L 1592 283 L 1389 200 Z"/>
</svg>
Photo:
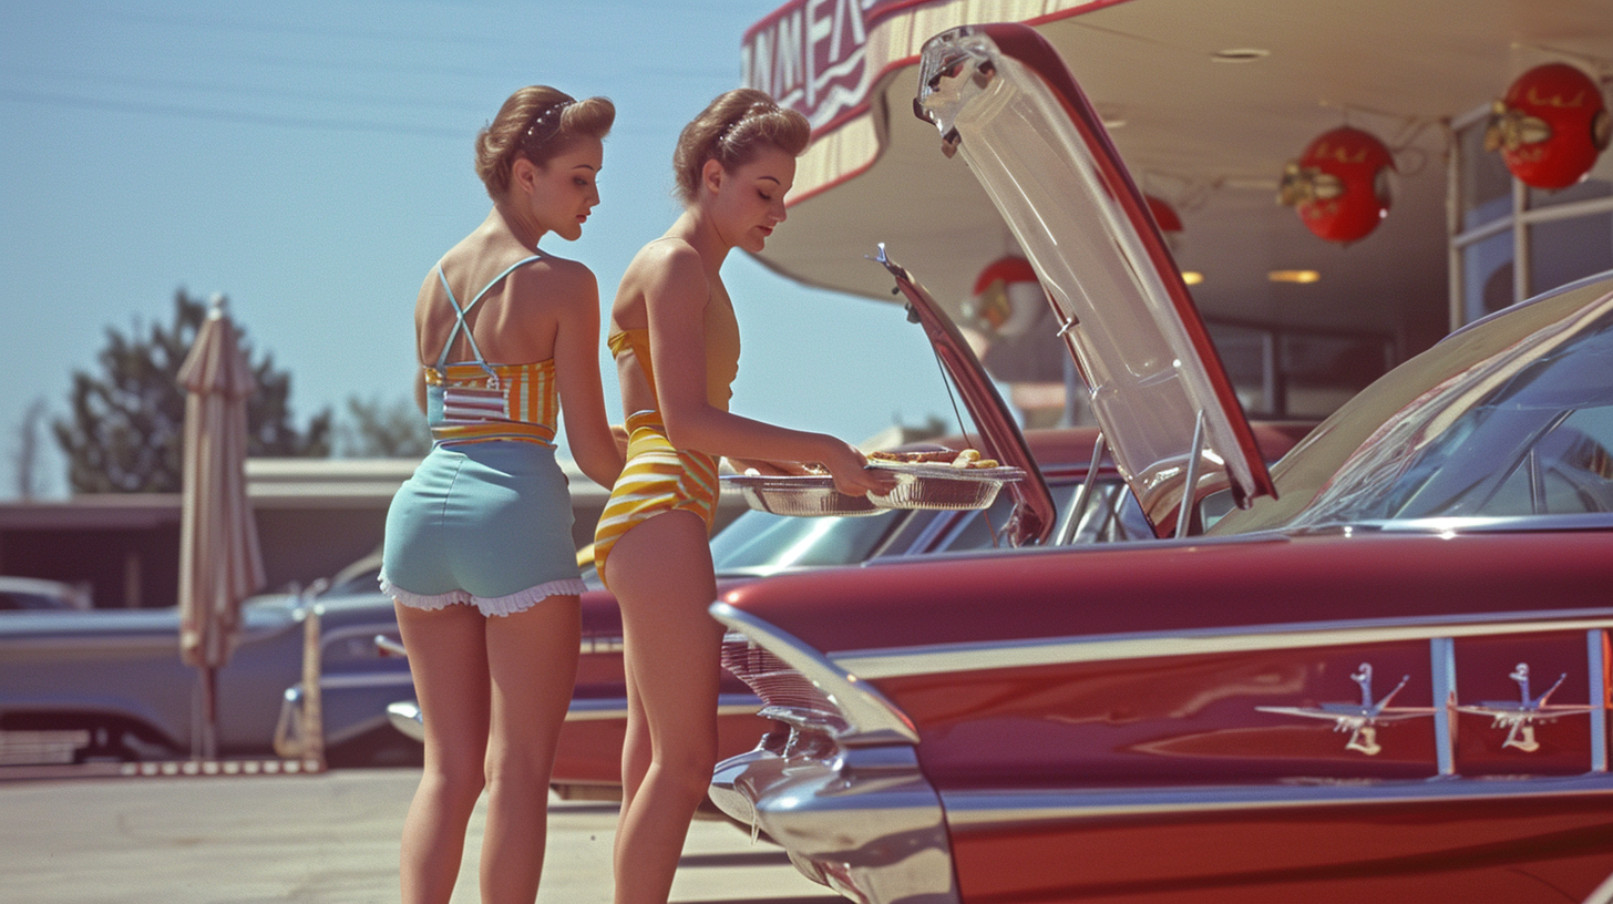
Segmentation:
<svg viewBox="0 0 1613 904">
<path fill-rule="evenodd" d="M 548 778 L 577 678 L 582 617 L 574 596 L 552 596 L 487 618 L 492 731 L 482 902 L 532 904 L 544 872 Z"/>
</svg>

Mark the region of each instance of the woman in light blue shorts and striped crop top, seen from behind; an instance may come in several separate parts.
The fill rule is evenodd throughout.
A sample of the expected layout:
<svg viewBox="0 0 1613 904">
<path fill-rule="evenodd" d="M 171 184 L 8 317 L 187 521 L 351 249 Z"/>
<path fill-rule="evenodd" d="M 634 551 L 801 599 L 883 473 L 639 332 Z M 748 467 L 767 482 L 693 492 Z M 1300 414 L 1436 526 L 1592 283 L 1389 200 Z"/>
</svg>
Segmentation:
<svg viewBox="0 0 1613 904">
<path fill-rule="evenodd" d="M 426 730 L 403 823 L 406 904 L 450 899 L 484 788 L 481 901 L 537 899 L 584 591 L 555 462 L 560 412 L 584 475 L 611 486 L 623 463 L 605 420 L 598 284 L 539 242 L 582 236 L 615 115 L 603 97 L 515 92 L 476 139 L 492 211 L 415 302 L 432 449 L 392 499 L 381 563 Z"/>
</svg>

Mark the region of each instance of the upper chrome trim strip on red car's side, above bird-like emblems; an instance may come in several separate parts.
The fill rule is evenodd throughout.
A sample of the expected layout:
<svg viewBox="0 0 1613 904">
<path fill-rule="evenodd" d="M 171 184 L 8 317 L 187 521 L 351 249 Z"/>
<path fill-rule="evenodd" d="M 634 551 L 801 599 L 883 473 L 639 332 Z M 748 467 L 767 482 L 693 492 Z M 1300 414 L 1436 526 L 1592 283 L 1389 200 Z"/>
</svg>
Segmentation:
<svg viewBox="0 0 1613 904">
<path fill-rule="evenodd" d="M 1605 628 L 1613 628 L 1613 609 L 1318 622 L 1315 625 L 1268 625 L 1253 630 L 1200 628 L 1034 641 L 931 644 L 847 651 L 831 654 L 829 660 L 839 670 L 848 672 L 857 678 L 897 678 L 907 675 L 1026 668 L 1032 665 L 1152 659 L 1161 655 L 1203 655 Z"/>
</svg>

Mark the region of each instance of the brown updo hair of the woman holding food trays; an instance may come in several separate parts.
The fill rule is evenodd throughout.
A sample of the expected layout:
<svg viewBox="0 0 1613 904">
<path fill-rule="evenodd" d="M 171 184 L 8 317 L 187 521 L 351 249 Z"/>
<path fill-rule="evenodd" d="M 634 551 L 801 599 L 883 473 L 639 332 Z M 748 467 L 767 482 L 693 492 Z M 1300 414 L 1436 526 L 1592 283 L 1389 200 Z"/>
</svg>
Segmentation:
<svg viewBox="0 0 1613 904">
<path fill-rule="evenodd" d="M 806 118 L 779 107 L 766 92 L 737 87 L 719 94 L 677 136 L 673 152 L 677 197 L 694 203 L 706 160 L 716 160 L 732 173 L 768 147 L 800 157 L 808 140 L 811 126 Z"/>
</svg>

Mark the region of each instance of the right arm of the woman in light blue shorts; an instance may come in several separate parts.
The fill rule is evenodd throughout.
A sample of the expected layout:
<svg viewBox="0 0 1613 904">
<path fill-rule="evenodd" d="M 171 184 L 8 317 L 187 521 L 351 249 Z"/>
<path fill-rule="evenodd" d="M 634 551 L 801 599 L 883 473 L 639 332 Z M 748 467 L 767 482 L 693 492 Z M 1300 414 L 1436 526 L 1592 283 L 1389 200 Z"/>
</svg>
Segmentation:
<svg viewBox="0 0 1613 904">
<path fill-rule="evenodd" d="M 555 381 L 566 418 L 571 458 L 594 483 L 610 488 L 621 475 L 623 454 L 605 418 L 600 384 L 600 294 L 586 266 L 566 274 L 556 292 L 560 316 L 555 329 Z"/>
</svg>

